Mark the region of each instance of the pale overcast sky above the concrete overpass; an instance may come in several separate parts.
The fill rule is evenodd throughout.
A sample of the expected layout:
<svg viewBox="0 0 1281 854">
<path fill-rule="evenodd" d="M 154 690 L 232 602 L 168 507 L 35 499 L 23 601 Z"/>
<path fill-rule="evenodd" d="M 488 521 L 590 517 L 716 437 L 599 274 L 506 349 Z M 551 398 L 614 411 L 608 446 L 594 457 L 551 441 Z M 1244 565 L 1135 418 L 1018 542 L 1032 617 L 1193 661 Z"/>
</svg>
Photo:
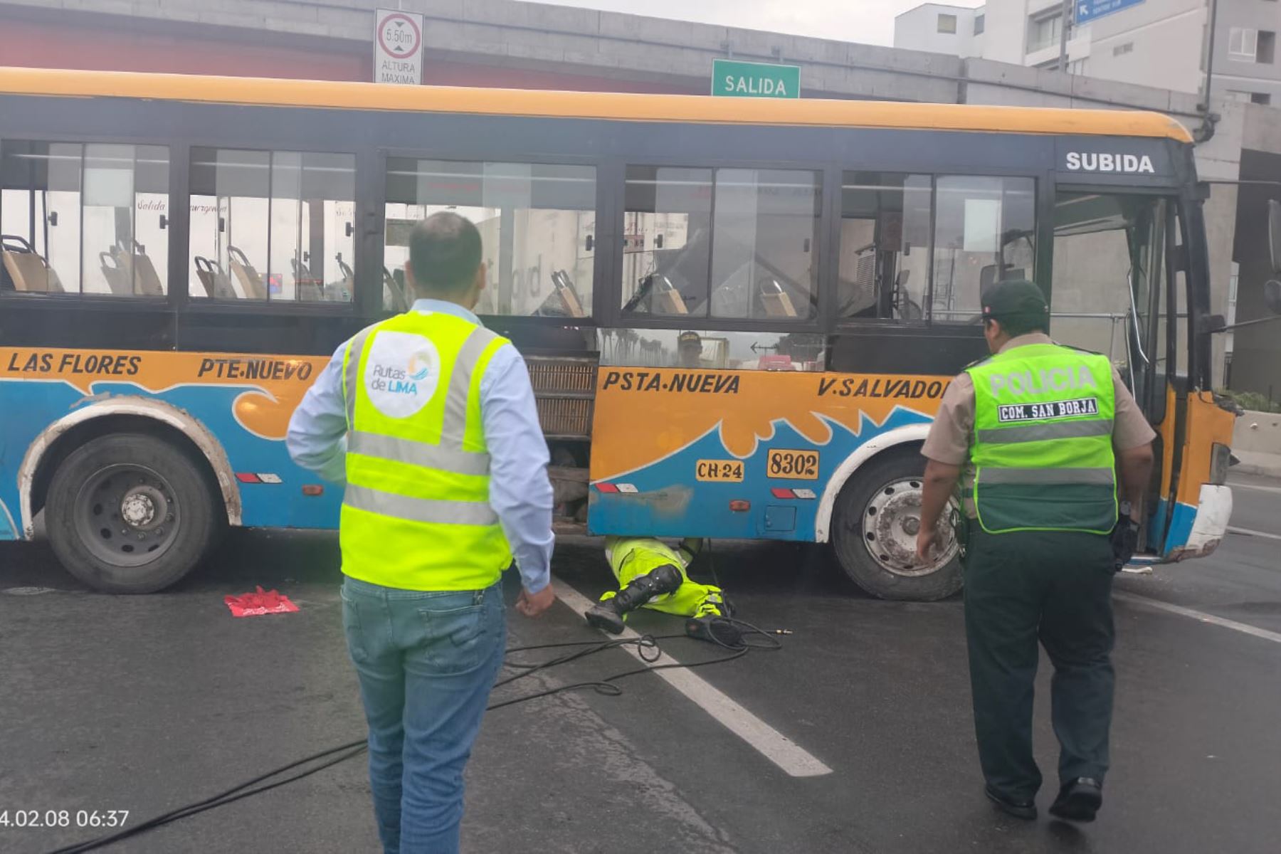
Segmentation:
<svg viewBox="0 0 1281 854">
<path fill-rule="evenodd" d="M 867 45 L 894 42 L 894 15 L 924 0 L 543 0 L 562 6 L 747 27 Z M 983 0 L 945 0 L 979 6 Z"/>
</svg>

